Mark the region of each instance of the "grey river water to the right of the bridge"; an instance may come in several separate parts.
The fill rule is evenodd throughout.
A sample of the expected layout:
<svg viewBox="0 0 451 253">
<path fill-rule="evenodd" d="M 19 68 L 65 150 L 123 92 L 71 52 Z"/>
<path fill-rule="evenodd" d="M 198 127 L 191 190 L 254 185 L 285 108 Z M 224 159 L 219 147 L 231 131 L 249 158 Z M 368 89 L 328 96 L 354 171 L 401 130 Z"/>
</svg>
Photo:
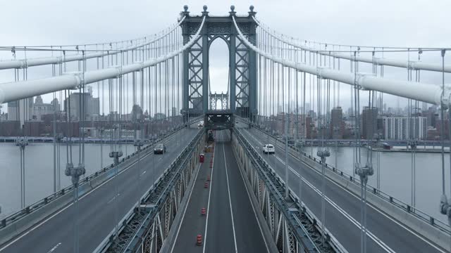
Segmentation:
<svg viewBox="0 0 451 253">
<path fill-rule="evenodd" d="M 307 147 L 305 152 L 317 159 L 316 147 Z M 354 148 L 329 147 L 330 157 L 326 163 L 352 175 Z M 374 174 L 369 177 L 368 184 L 377 186 L 377 153 L 373 152 Z M 366 164 L 367 150 L 361 148 L 361 164 Z M 336 164 L 335 164 L 336 159 Z M 412 153 L 379 152 L 381 190 L 398 200 L 412 205 Z M 442 195 L 442 165 L 440 153 L 416 153 L 415 155 L 415 207 L 435 219 L 447 223 L 440 214 L 438 206 Z M 450 153 L 445 153 L 445 193 L 450 197 Z"/>
</svg>

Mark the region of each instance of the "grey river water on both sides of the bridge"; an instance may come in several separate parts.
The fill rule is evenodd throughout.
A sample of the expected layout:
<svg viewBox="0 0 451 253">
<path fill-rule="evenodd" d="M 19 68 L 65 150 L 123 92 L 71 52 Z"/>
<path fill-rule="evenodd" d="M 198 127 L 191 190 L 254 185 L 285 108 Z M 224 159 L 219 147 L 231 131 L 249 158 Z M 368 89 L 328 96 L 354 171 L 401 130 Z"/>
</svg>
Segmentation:
<svg viewBox="0 0 451 253">
<path fill-rule="evenodd" d="M 123 145 L 124 155 L 134 151 L 132 145 Z M 313 155 L 316 157 L 316 147 Z M 109 144 L 85 145 L 86 175 L 92 174 L 103 165 L 112 163 L 109 157 Z M 311 154 L 312 148 L 305 148 Z M 30 205 L 37 200 L 53 193 L 54 189 L 54 147 L 53 143 L 30 143 L 25 148 L 25 202 Z M 362 164 L 366 161 L 366 149 L 361 149 Z M 396 197 L 402 202 L 412 204 L 412 155 L 411 153 L 380 152 L 380 184 L 381 190 L 388 195 Z M 0 143 L 0 206 L 2 216 L 6 216 L 20 209 L 20 153 L 14 143 Z M 336 157 L 336 165 L 335 165 Z M 326 163 L 352 175 L 353 148 L 330 147 L 330 157 Z M 441 186 L 441 159 L 440 153 L 416 153 L 416 207 L 447 223 L 445 216 L 438 212 L 438 204 L 442 193 Z M 78 147 L 73 150 L 73 163 L 78 164 Z M 61 145 L 61 188 L 69 186 L 70 177 L 64 175 L 66 166 L 66 148 Z M 369 185 L 376 186 L 377 158 L 373 152 L 374 175 L 369 178 Z M 450 197 L 450 157 L 445 154 L 445 182 L 446 193 Z"/>
</svg>

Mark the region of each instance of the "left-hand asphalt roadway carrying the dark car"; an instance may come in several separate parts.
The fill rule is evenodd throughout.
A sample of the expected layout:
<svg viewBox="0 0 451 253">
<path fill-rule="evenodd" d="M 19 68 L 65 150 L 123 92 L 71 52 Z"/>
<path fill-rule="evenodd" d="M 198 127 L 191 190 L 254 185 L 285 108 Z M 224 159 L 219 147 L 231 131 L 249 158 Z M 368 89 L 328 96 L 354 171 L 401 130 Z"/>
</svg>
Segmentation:
<svg viewBox="0 0 451 253">
<path fill-rule="evenodd" d="M 190 143 L 199 129 L 182 129 L 166 141 L 167 153 L 149 153 L 118 176 L 82 195 L 79 201 L 80 252 L 92 252 L 137 204 L 175 157 Z M 116 195 L 116 184 L 118 195 Z M 115 210 L 118 207 L 118 215 Z M 16 239 L 0 246 L 0 252 L 73 252 L 75 209 L 72 203 L 37 223 Z"/>
</svg>

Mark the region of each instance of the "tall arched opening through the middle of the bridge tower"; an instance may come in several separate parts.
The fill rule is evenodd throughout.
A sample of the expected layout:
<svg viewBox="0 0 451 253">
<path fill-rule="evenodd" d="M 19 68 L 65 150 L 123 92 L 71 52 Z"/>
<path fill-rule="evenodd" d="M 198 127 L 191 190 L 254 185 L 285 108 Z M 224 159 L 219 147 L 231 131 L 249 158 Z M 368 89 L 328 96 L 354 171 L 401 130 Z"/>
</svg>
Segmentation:
<svg viewBox="0 0 451 253">
<path fill-rule="evenodd" d="M 228 93 L 230 83 L 229 48 L 222 37 L 211 41 L 209 48 L 209 90 L 210 93 Z M 216 109 L 222 108 L 222 103 L 216 100 Z"/>
</svg>

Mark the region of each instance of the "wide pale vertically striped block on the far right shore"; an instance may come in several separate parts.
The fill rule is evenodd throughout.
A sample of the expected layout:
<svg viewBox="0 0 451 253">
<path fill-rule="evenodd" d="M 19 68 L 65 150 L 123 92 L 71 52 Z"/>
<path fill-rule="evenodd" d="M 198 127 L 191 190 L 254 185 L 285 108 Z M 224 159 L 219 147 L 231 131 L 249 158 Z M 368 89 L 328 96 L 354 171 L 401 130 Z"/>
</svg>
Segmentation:
<svg viewBox="0 0 451 253">
<path fill-rule="evenodd" d="M 384 137 L 387 140 L 411 140 L 427 137 L 426 117 L 384 117 L 383 121 Z"/>
</svg>

